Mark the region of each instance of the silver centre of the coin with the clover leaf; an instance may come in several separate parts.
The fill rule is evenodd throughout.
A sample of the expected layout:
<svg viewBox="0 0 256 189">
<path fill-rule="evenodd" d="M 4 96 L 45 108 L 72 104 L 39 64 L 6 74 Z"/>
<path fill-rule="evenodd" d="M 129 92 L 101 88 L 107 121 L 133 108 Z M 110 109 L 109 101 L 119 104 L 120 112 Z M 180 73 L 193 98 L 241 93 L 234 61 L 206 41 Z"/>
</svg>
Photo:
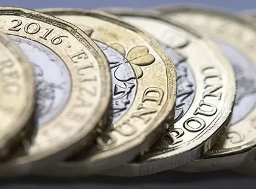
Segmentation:
<svg viewBox="0 0 256 189">
<path fill-rule="evenodd" d="M 138 88 L 130 62 L 117 50 L 94 40 L 107 57 L 111 68 L 113 92 L 113 123 L 120 120 L 131 107 Z"/>
</svg>

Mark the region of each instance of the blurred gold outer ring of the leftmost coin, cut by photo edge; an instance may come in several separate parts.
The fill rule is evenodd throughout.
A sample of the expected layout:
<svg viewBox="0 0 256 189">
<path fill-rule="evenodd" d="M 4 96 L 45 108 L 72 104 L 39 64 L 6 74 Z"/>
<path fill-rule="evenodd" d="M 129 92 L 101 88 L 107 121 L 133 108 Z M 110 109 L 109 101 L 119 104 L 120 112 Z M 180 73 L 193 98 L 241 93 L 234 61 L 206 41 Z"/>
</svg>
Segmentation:
<svg viewBox="0 0 256 189">
<path fill-rule="evenodd" d="M 35 85 L 27 57 L 0 33 L 0 156 L 9 156 L 27 134 L 32 119 Z"/>
</svg>

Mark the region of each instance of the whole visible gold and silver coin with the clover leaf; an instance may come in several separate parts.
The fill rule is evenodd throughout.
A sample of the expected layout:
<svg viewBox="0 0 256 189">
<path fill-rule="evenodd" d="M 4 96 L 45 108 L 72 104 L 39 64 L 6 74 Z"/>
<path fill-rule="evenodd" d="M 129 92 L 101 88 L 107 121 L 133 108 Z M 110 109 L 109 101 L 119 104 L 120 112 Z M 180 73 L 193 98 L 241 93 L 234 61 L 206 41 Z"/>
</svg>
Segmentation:
<svg viewBox="0 0 256 189">
<path fill-rule="evenodd" d="M 79 26 L 105 53 L 113 79 L 113 125 L 89 154 L 80 152 L 80 157 L 41 174 L 96 173 L 149 149 L 166 130 L 166 122 L 173 120 L 176 101 L 175 67 L 159 43 L 101 11 L 47 9 L 44 13 Z"/>
</svg>

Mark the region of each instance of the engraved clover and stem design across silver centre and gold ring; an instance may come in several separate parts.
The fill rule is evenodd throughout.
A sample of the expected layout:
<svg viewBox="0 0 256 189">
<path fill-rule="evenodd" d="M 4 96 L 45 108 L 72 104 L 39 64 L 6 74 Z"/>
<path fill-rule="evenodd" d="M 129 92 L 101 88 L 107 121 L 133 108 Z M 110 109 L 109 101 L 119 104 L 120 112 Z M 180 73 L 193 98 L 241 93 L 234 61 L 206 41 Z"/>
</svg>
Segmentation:
<svg viewBox="0 0 256 189">
<path fill-rule="evenodd" d="M 117 43 L 109 45 L 112 49 L 116 50 L 123 56 L 123 60 L 109 61 L 111 69 L 115 69 L 114 77 L 122 82 L 122 86 L 114 85 L 113 96 L 113 113 L 117 116 L 123 110 L 126 110 L 127 105 L 130 104 L 129 94 L 135 87 L 135 84 L 129 82 L 131 79 L 136 79 L 133 72 L 128 69 L 128 65 L 133 67 L 133 71 L 137 79 L 143 76 L 142 66 L 149 66 L 155 60 L 154 56 L 149 54 L 149 49 L 145 46 L 137 46 L 131 49 L 127 55 L 125 48 Z"/>
</svg>

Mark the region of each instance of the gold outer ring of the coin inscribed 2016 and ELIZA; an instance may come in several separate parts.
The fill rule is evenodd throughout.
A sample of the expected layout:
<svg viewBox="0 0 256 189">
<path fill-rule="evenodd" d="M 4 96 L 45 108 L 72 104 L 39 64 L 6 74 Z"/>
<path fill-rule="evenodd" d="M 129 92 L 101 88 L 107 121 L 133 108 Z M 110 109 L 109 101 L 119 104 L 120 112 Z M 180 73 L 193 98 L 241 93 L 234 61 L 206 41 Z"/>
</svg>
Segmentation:
<svg viewBox="0 0 256 189">
<path fill-rule="evenodd" d="M 64 78 L 64 85 L 54 83 L 61 77 L 56 79 L 52 74 L 51 79 L 54 77 L 55 80 L 52 81 L 51 88 L 56 84 L 58 88 L 65 89 L 65 93 L 61 94 L 68 93 L 67 97 L 61 98 L 61 102 L 66 100 L 66 104 L 57 104 L 61 108 L 56 116 L 37 125 L 39 129 L 32 144 L 27 140 L 23 141 L 25 154 L 16 154 L 0 165 L 1 176 L 28 174 L 31 169 L 44 169 L 46 164 L 50 166 L 51 163 L 70 156 L 72 152 L 91 145 L 102 127 L 107 125 L 111 108 L 110 70 L 105 55 L 93 40 L 66 21 L 30 9 L 11 7 L 0 8 L 0 18 L 1 31 L 25 50 L 30 62 L 36 65 L 34 71 L 39 71 L 41 76 L 37 78 L 40 79 L 39 84 L 42 84 L 44 73 L 51 72 L 51 69 L 56 71 L 54 67 L 49 69 L 39 65 L 39 60 L 44 60 L 45 54 L 49 52 L 47 62 L 51 59 L 51 64 L 59 61 L 57 70 L 62 69 L 61 73 L 54 74 L 63 75 Z M 33 55 L 27 52 L 30 46 L 34 48 L 31 52 Z M 45 51 L 40 59 L 35 57 L 37 51 L 42 49 L 48 49 L 48 52 Z M 54 55 L 51 55 L 50 50 Z M 43 65 L 47 65 L 47 62 L 43 62 Z M 43 79 L 49 80 L 47 76 Z M 69 82 L 70 87 L 65 88 Z M 44 83 L 44 87 L 46 84 Z M 38 90 L 37 87 L 37 95 L 40 95 Z M 46 88 L 42 90 L 46 92 Z M 59 107 L 57 105 L 54 110 Z"/>
</svg>

